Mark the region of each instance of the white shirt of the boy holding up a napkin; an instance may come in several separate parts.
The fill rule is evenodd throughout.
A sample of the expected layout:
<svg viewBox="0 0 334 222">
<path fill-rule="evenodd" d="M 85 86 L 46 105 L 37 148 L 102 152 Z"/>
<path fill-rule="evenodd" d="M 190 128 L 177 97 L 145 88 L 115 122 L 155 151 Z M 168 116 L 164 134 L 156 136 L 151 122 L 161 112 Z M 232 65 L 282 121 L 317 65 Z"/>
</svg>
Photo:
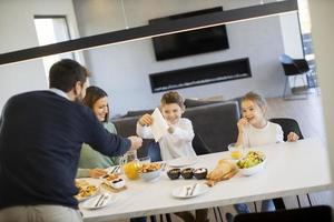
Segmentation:
<svg viewBox="0 0 334 222">
<path fill-rule="evenodd" d="M 191 121 L 181 118 L 174 125 L 173 133 L 166 133 L 158 142 L 163 160 L 175 158 L 196 157 L 191 141 L 195 137 Z M 153 139 L 150 127 L 141 127 L 137 123 L 137 134 L 144 139 Z"/>
</svg>

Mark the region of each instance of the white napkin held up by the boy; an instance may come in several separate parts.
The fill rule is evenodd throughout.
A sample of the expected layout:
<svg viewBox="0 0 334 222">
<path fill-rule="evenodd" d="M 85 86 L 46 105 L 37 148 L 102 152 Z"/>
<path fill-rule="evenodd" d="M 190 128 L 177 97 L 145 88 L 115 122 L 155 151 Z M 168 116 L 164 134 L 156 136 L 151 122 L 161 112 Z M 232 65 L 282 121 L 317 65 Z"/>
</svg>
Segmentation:
<svg viewBox="0 0 334 222">
<path fill-rule="evenodd" d="M 151 118 L 154 119 L 150 125 L 151 133 L 155 141 L 158 142 L 168 132 L 168 124 L 158 108 L 151 113 Z"/>
</svg>

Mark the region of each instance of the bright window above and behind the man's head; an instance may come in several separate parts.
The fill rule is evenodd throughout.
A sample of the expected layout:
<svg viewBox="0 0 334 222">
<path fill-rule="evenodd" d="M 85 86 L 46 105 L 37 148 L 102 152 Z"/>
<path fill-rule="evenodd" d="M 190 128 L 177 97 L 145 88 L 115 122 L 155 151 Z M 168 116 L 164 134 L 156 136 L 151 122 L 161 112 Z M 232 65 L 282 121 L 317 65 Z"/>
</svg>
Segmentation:
<svg viewBox="0 0 334 222">
<path fill-rule="evenodd" d="M 70 40 L 70 34 L 66 21 L 62 16 L 36 16 L 35 27 L 37 31 L 39 46 L 57 43 Z M 49 78 L 50 67 L 60 59 L 75 59 L 72 52 L 55 54 L 43 58 L 43 65 L 47 79 Z"/>
</svg>

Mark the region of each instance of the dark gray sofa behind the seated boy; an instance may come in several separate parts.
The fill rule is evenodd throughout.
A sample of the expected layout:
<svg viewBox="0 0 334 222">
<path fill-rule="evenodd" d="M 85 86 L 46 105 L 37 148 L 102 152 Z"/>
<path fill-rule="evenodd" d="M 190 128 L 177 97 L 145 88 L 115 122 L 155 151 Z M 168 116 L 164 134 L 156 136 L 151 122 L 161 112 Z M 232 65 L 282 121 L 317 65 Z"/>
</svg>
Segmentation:
<svg viewBox="0 0 334 222">
<path fill-rule="evenodd" d="M 186 103 L 187 105 L 187 103 Z M 229 102 L 205 102 L 188 108 L 183 117 L 193 122 L 195 134 L 199 135 L 206 147 L 212 152 L 227 150 L 227 145 L 237 139 L 237 121 L 239 119 L 239 108 L 237 101 Z M 151 110 L 132 111 L 129 114 L 135 117 L 124 117 L 112 119 L 118 134 L 128 137 L 136 134 L 136 123 L 144 113 L 150 113 Z M 138 157 L 147 155 L 147 144 L 149 140 L 144 141 L 143 149 L 138 151 Z"/>
</svg>

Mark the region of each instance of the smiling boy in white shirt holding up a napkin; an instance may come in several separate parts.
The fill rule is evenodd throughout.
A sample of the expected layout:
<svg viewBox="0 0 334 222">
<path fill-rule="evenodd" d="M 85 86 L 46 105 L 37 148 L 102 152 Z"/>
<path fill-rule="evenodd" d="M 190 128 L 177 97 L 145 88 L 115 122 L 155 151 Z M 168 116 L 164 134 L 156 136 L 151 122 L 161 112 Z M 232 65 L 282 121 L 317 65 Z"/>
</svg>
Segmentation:
<svg viewBox="0 0 334 222">
<path fill-rule="evenodd" d="M 183 98 L 177 92 L 167 92 L 160 100 L 160 111 L 169 128 L 158 142 L 163 160 L 183 157 L 196 157 L 191 141 L 195 137 L 191 121 L 181 118 L 185 112 Z M 145 139 L 153 139 L 150 125 L 153 118 L 144 114 L 137 123 L 137 134 Z"/>
</svg>

